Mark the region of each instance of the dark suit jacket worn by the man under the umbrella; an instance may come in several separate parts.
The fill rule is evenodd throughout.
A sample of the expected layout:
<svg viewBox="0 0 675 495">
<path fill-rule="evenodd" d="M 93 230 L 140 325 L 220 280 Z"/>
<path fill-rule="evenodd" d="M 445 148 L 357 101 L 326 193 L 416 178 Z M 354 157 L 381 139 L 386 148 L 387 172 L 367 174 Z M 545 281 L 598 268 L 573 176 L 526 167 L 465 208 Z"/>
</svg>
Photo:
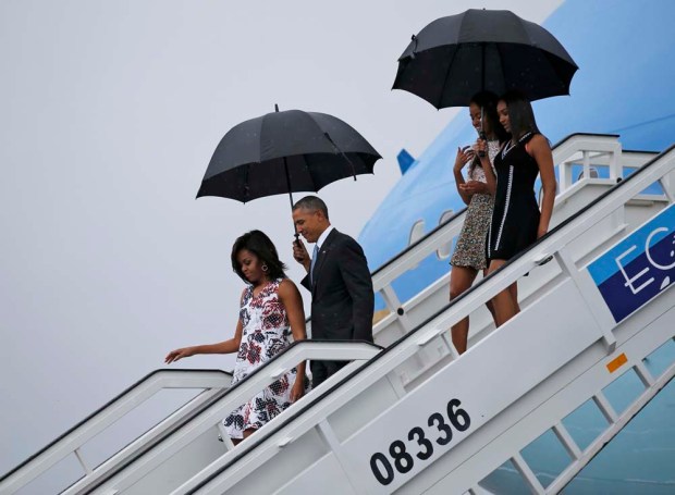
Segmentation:
<svg viewBox="0 0 675 495">
<path fill-rule="evenodd" d="M 311 337 L 372 342 L 372 280 L 359 244 L 335 228 L 300 282 L 311 292 Z"/>
</svg>

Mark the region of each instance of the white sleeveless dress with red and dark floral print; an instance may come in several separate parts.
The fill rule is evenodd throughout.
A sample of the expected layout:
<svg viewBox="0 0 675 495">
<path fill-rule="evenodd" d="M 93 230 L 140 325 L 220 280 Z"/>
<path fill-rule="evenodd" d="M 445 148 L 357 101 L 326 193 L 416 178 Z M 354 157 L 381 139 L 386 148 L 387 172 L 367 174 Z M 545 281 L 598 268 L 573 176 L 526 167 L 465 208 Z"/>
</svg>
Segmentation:
<svg viewBox="0 0 675 495">
<path fill-rule="evenodd" d="M 233 385 L 269 361 L 292 342 L 286 309 L 279 300 L 281 281 L 282 279 L 278 279 L 268 283 L 257 296 L 254 296 L 253 286 L 249 286 L 242 297 L 240 309 L 242 343 L 234 366 Z M 230 437 L 243 438 L 244 430 L 257 430 L 287 408 L 291 405 L 291 388 L 295 383 L 296 374 L 297 370 L 293 368 L 269 387 L 232 411 L 223 420 Z"/>
</svg>

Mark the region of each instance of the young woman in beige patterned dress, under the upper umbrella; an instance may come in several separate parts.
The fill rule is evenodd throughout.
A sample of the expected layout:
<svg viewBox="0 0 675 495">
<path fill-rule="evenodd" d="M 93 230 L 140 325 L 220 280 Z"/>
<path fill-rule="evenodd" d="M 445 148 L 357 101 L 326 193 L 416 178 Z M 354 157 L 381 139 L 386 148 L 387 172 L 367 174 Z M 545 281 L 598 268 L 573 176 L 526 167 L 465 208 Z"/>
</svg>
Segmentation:
<svg viewBox="0 0 675 495">
<path fill-rule="evenodd" d="M 486 260 L 486 236 L 492 215 L 492 195 L 494 189 L 486 182 L 484 166 L 491 169 L 492 160 L 500 149 L 501 143 L 506 139 L 506 133 L 499 124 L 496 116 L 496 95 L 483 91 L 475 95 L 469 103 L 471 124 L 480 134 L 487 137 L 488 152 L 486 161 L 481 163 L 476 151 L 470 147 L 457 148 L 453 173 L 457 193 L 468 206 L 462 232 L 457 238 L 455 251 L 450 263 L 450 299 L 467 290 L 480 270 L 486 273 L 488 262 Z M 489 162 L 489 163 L 488 163 Z M 464 180 L 462 169 L 468 164 L 467 181 Z M 492 305 L 488 304 L 492 312 Z M 457 352 L 466 350 L 469 333 L 469 318 L 458 321 L 452 330 L 453 345 Z"/>
</svg>

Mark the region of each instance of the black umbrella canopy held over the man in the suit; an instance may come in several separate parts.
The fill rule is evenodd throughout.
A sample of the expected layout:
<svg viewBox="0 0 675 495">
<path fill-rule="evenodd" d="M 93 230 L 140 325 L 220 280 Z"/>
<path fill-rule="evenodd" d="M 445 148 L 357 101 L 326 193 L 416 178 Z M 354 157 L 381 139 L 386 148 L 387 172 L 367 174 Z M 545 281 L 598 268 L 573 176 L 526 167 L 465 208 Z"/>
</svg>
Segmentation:
<svg viewBox="0 0 675 495">
<path fill-rule="evenodd" d="M 197 197 L 247 202 L 282 193 L 318 191 L 340 178 L 372 173 L 380 158 L 340 119 L 300 110 L 277 111 L 243 122 L 225 134 Z"/>
</svg>

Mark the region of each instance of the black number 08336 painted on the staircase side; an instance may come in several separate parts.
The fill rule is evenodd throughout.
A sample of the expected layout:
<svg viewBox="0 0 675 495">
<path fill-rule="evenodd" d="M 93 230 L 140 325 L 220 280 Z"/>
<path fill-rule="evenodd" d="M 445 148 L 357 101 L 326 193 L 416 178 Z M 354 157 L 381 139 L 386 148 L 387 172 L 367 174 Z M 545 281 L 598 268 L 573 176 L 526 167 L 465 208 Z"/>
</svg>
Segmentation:
<svg viewBox="0 0 675 495">
<path fill-rule="evenodd" d="M 386 454 L 375 453 L 370 457 L 370 469 L 376 480 L 382 485 L 390 484 L 396 472 L 409 472 L 415 467 L 416 459 L 424 462 L 431 458 L 434 445 L 443 447 L 450 444 L 453 431 L 468 430 L 471 418 L 459 408 L 461 405 L 459 399 L 450 399 L 445 414 L 433 412 L 427 419 L 430 431 L 415 426 L 408 432 L 407 444 L 403 440 L 395 440 L 390 444 Z"/>
</svg>

